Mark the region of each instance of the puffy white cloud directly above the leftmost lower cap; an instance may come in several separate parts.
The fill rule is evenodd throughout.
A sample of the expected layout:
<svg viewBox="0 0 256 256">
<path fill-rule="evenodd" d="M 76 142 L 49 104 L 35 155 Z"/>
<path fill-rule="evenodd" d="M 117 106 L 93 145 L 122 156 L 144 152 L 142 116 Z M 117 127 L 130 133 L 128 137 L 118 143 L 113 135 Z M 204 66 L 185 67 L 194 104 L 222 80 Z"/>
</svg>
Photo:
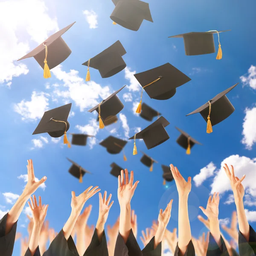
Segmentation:
<svg viewBox="0 0 256 256">
<path fill-rule="evenodd" d="M 44 112 L 49 108 L 49 96 L 48 93 L 32 92 L 31 101 L 25 101 L 24 99 L 14 105 L 14 111 L 19 113 L 22 120 L 37 120 L 41 119 Z"/>
</svg>

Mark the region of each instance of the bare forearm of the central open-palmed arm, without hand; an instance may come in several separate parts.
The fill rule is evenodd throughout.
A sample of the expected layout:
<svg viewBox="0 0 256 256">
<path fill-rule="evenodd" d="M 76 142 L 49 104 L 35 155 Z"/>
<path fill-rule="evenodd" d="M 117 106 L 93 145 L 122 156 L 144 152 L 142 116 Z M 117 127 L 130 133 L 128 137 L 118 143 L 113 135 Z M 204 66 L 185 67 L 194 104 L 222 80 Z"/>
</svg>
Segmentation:
<svg viewBox="0 0 256 256">
<path fill-rule="evenodd" d="M 131 231 L 131 204 L 120 205 L 119 233 L 126 243 Z"/>
</svg>

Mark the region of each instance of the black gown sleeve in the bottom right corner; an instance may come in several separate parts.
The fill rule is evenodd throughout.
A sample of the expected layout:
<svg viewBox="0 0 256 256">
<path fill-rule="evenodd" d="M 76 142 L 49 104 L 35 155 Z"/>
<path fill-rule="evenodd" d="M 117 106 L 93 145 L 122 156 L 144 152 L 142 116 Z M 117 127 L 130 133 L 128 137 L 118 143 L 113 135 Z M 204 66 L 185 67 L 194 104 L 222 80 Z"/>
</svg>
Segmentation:
<svg viewBox="0 0 256 256">
<path fill-rule="evenodd" d="M 241 234 L 239 230 L 238 235 L 238 248 L 239 248 L 239 254 L 241 256 L 254 256 L 256 255 L 256 233 L 253 230 L 253 228 L 250 227 L 250 236 L 249 241 L 247 242 L 244 236 Z"/>
</svg>

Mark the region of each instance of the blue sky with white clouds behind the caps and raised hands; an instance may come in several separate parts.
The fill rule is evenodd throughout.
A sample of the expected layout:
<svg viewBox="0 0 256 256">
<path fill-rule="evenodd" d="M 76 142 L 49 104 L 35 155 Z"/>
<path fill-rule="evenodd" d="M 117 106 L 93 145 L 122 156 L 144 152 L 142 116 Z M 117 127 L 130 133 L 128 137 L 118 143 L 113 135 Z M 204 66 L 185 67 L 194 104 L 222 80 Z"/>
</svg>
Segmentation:
<svg viewBox="0 0 256 256">
<path fill-rule="evenodd" d="M 50 227 L 60 231 L 70 215 L 71 191 L 76 195 L 88 186 L 99 186 L 112 193 L 114 204 L 107 224 L 114 224 L 119 215 L 117 179 L 109 174 L 110 164 L 115 162 L 128 171 L 134 171 L 134 179 L 140 180 L 131 201 L 137 213 L 138 242 L 141 230 L 151 227 L 160 208 L 174 199 L 172 217 L 168 229 L 177 227 L 178 198 L 174 181 L 163 186 L 161 164 L 173 163 L 185 179 L 191 176 L 192 191 L 189 195 L 189 218 L 192 235 L 198 237 L 206 231 L 197 215 L 203 213 L 211 192 L 220 192 L 222 223 L 229 225 L 235 204 L 229 181 L 221 166 L 233 164 L 238 177 L 246 174 L 244 198 L 247 218 L 255 227 L 256 221 L 256 2 L 232 0 L 148 0 L 154 23 L 143 21 L 135 32 L 119 25 L 114 26 L 110 15 L 114 9 L 111 0 L 0 0 L 0 108 L 1 111 L 1 179 L 0 217 L 2 217 L 22 193 L 26 180 L 26 160 L 34 162 L 35 175 L 47 176 L 45 186 L 35 195 L 49 204 L 47 219 Z M 76 23 L 62 38 L 72 54 L 61 65 L 51 70 L 52 78 L 44 79 L 43 70 L 34 58 L 16 61 L 41 44 L 49 35 L 70 23 Z M 182 38 L 168 38 L 187 32 L 227 30 L 221 33 L 222 60 L 216 60 L 217 52 L 209 55 L 186 56 Z M 215 48 L 218 49 L 218 37 Z M 98 70 L 90 69 L 91 81 L 85 82 L 87 68 L 81 64 L 119 40 L 126 50 L 123 56 L 127 67 L 120 73 L 102 79 Z M 169 140 L 147 150 L 143 141 L 137 141 L 139 153 L 132 155 L 133 141 L 125 146 L 127 162 L 122 153 L 108 154 L 99 145 L 109 135 L 127 140 L 150 122 L 134 113 L 140 100 L 141 86 L 134 78 L 140 73 L 169 62 L 192 80 L 177 88 L 174 97 L 165 101 L 150 99 L 143 93 L 143 102 L 156 109 L 170 125 L 166 127 Z M 201 115 L 187 116 L 228 87 L 239 84 L 227 94 L 236 111 L 206 133 L 206 122 Z M 95 113 L 87 110 L 102 99 L 127 85 L 119 99 L 125 105 L 118 114 L 119 121 L 112 127 L 99 130 Z M 70 133 L 95 135 L 86 147 L 63 145 L 48 134 L 32 135 L 44 112 L 72 102 L 68 121 Z M 94 111 L 95 112 L 95 111 Z M 156 118 L 154 119 L 154 121 Z M 177 145 L 179 127 L 203 145 L 195 145 L 192 153 Z M 69 139 L 71 139 L 69 137 Z M 140 150 L 158 161 L 153 172 L 140 163 Z M 69 157 L 84 169 L 83 183 L 71 176 Z M 88 224 L 96 224 L 99 209 L 98 195 L 87 201 L 93 210 Z M 27 236 L 26 205 L 18 221 L 17 231 Z M 224 233 L 227 236 L 227 233 Z M 14 256 L 20 255 L 17 241 Z M 166 253 L 168 254 L 168 252 Z"/>
</svg>

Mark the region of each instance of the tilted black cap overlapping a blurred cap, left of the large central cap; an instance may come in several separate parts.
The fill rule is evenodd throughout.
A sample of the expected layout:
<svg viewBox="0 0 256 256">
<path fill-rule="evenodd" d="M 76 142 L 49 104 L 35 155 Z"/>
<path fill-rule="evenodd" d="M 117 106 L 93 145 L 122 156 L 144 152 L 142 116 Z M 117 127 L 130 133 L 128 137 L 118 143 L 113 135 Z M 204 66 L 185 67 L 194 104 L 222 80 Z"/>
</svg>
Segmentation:
<svg viewBox="0 0 256 256">
<path fill-rule="evenodd" d="M 126 86 L 126 85 L 125 85 Z M 108 119 L 111 119 L 113 116 L 118 114 L 123 108 L 124 105 L 116 96 L 120 90 L 122 90 L 125 86 L 121 89 L 117 90 L 116 92 L 112 93 L 111 96 L 108 96 L 107 99 L 102 100 L 97 106 L 88 110 L 88 112 L 97 111 L 99 113 L 99 128 L 104 128 L 104 123 Z M 102 122 L 103 120 L 103 122 Z"/>
</svg>

